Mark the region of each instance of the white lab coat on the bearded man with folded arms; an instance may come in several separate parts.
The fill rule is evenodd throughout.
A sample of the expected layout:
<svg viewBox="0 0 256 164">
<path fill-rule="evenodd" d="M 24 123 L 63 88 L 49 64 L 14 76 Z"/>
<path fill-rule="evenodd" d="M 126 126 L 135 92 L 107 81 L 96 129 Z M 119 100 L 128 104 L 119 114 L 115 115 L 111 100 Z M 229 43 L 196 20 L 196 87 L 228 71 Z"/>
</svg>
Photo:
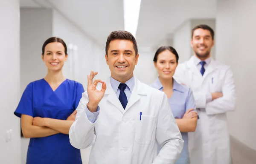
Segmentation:
<svg viewBox="0 0 256 164">
<path fill-rule="evenodd" d="M 230 66 L 211 59 L 201 75 L 193 56 L 178 64 L 174 78 L 192 89 L 200 119 L 195 132 L 189 132 L 191 164 L 231 164 L 226 112 L 235 109 L 235 84 Z M 206 103 L 206 94 L 222 92 L 223 97 Z"/>
</svg>

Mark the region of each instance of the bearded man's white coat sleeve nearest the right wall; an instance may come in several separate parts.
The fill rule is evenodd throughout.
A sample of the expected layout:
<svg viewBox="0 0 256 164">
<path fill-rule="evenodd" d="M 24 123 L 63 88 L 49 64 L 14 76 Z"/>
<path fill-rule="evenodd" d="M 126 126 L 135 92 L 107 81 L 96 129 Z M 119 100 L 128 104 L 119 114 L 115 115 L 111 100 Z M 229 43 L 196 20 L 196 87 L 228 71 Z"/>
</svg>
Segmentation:
<svg viewBox="0 0 256 164">
<path fill-rule="evenodd" d="M 236 89 L 233 79 L 233 72 L 230 68 L 225 74 L 224 84 L 222 86 L 221 98 L 217 98 L 206 105 L 207 115 L 221 114 L 228 111 L 235 110 L 236 106 Z"/>
</svg>

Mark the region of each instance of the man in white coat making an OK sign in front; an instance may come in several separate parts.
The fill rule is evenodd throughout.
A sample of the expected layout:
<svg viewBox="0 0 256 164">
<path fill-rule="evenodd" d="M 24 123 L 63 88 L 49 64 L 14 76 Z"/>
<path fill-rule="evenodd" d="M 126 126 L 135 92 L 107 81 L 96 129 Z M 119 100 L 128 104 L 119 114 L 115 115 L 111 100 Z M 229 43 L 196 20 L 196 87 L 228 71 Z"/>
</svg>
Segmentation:
<svg viewBox="0 0 256 164">
<path fill-rule="evenodd" d="M 111 32 L 105 50 L 111 76 L 93 82 L 97 72 L 88 75 L 70 143 L 78 149 L 92 145 L 89 164 L 175 164 L 183 139 L 167 96 L 133 75 L 139 58 L 135 38 Z M 163 146 L 159 155 L 157 142 Z"/>
</svg>

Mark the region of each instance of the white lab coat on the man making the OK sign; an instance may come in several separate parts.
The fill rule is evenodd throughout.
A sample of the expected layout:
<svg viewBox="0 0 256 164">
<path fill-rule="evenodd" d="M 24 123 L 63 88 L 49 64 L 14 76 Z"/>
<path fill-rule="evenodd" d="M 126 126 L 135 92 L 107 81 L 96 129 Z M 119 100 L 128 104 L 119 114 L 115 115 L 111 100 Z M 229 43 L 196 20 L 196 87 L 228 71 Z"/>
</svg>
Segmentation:
<svg viewBox="0 0 256 164">
<path fill-rule="evenodd" d="M 89 164 L 175 164 L 183 148 L 183 139 L 167 96 L 135 78 L 124 110 L 110 79 L 106 84 L 94 124 L 85 112 L 87 92 L 82 94 L 76 121 L 69 131 L 71 145 L 78 149 L 93 145 Z M 158 156 L 157 141 L 164 145 Z"/>
</svg>

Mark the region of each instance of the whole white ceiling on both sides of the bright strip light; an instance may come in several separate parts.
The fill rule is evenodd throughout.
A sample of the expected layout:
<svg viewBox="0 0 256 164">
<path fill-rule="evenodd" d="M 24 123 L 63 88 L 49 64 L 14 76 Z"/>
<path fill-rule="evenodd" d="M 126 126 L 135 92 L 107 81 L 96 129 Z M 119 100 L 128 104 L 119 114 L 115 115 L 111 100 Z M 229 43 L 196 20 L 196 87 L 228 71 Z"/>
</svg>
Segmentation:
<svg viewBox="0 0 256 164">
<path fill-rule="evenodd" d="M 100 46 L 111 31 L 124 29 L 123 0 L 20 0 L 20 6 L 55 8 Z M 215 16 L 216 0 L 141 0 L 138 46 L 154 47 L 190 18 Z"/>
</svg>

